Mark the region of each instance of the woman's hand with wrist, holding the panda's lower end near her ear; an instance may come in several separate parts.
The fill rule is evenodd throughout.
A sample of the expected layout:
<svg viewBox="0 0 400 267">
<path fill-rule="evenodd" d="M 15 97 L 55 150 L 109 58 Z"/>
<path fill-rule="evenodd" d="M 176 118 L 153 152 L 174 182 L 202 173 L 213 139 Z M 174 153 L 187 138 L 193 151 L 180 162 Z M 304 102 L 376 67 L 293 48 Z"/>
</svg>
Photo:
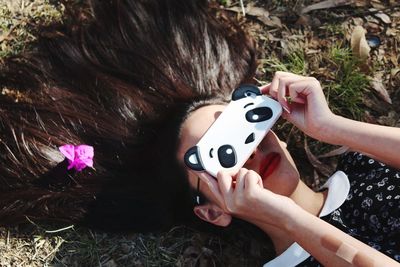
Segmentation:
<svg viewBox="0 0 400 267">
<path fill-rule="evenodd" d="M 293 209 L 299 208 L 290 198 L 265 189 L 260 175 L 252 170 L 242 168 L 235 176 L 219 172 L 217 180 L 201 173 L 200 178 L 225 212 L 253 224 L 282 228 Z"/>
</svg>

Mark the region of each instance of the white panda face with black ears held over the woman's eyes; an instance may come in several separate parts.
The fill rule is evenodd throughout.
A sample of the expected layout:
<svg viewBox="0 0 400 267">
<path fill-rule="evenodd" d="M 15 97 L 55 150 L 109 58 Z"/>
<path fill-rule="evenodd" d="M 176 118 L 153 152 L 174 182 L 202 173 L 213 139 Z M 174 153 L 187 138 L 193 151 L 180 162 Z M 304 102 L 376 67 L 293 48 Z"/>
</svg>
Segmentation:
<svg viewBox="0 0 400 267">
<path fill-rule="evenodd" d="M 281 113 L 281 105 L 262 95 L 258 87 L 239 87 L 196 146 L 185 153 L 185 164 L 214 177 L 222 169 L 239 170 Z"/>
</svg>

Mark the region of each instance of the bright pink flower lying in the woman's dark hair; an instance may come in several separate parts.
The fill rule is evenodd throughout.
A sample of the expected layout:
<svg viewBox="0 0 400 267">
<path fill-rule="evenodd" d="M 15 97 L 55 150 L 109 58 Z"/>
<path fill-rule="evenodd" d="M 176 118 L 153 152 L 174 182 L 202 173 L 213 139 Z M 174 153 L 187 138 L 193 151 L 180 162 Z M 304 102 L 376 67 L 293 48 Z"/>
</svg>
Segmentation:
<svg viewBox="0 0 400 267">
<path fill-rule="evenodd" d="M 94 148 L 88 145 L 63 145 L 58 148 L 68 159 L 68 170 L 75 168 L 82 171 L 86 167 L 93 167 Z"/>
</svg>

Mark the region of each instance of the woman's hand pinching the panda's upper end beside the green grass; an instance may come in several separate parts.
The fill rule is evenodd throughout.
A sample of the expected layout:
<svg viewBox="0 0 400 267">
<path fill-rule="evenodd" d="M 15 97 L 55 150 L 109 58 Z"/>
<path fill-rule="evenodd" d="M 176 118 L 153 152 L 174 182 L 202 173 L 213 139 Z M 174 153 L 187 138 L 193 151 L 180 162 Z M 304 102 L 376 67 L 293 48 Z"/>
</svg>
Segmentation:
<svg viewBox="0 0 400 267">
<path fill-rule="evenodd" d="M 317 79 L 276 72 L 272 82 L 261 87 L 261 91 L 277 99 L 285 110 L 283 117 L 307 135 L 324 141 L 326 133 L 335 132 L 336 116 L 329 109 Z"/>
</svg>

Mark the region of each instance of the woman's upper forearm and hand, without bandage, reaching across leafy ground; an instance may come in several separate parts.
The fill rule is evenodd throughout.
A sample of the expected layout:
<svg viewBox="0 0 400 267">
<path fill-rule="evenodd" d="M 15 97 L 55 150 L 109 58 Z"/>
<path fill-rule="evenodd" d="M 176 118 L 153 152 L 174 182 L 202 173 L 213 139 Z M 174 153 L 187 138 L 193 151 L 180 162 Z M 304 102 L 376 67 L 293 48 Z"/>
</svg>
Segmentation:
<svg viewBox="0 0 400 267">
<path fill-rule="evenodd" d="M 272 82 L 261 90 L 278 99 L 286 110 L 283 117 L 307 135 L 330 144 L 348 146 L 400 168 L 397 153 L 400 151 L 400 129 L 333 114 L 315 78 L 277 72 Z"/>
</svg>

